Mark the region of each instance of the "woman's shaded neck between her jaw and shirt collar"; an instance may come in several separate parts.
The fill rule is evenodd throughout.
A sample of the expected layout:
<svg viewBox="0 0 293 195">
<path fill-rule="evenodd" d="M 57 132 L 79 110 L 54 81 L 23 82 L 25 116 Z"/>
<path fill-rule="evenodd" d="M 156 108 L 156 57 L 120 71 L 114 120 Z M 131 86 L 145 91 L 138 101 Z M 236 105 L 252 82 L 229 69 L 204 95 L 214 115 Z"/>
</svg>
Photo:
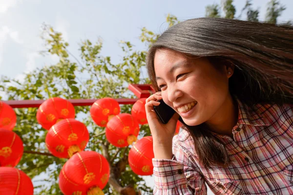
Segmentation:
<svg viewBox="0 0 293 195">
<path fill-rule="evenodd" d="M 237 101 L 229 94 L 223 105 L 218 111 L 206 122 L 211 131 L 233 137 L 232 129 L 238 120 Z"/>
</svg>

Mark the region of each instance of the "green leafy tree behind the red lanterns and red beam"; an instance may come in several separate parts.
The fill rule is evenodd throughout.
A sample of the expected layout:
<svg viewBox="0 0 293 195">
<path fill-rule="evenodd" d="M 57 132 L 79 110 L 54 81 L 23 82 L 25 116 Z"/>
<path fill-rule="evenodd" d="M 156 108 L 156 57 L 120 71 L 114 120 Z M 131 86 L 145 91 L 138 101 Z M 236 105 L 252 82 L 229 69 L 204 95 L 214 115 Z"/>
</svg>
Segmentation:
<svg viewBox="0 0 293 195">
<path fill-rule="evenodd" d="M 43 27 L 42 39 L 46 45 L 44 55 L 56 55 L 59 62 L 46 65 L 25 74 L 24 81 L 2 77 L 0 88 L 8 100 L 45 100 L 50 97 L 64 99 L 100 99 L 134 98 L 127 85 L 149 83 L 143 77 L 146 51 L 135 51 L 129 42 L 121 42 L 125 55 L 119 64 L 112 64 L 109 56 L 101 56 L 101 41 L 92 43 L 84 40 L 80 44 L 80 60 L 72 56 L 68 43 L 62 34 L 50 26 Z M 86 78 L 84 78 L 84 76 Z M 146 75 L 145 75 L 146 76 Z M 131 105 L 121 106 L 121 112 L 130 113 Z M 38 195 L 62 195 L 58 186 L 58 175 L 67 159 L 52 156 L 45 147 L 46 130 L 37 123 L 37 108 L 15 109 L 18 117 L 14 131 L 21 136 L 24 143 L 24 154 L 17 166 L 28 176 L 34 178 L 45 173 L 48 178 L 39 180 L 41 185 L 35 187 Z M 128 166 L 129 147 L 116 148 L 105 138 L 105 128 L 93 123 L 89 115 L 89 107 L 76 107 L 77 115 L 87 126 L 90 140 L 85 150 L 102 153 L 111 166 L 111 174 L 105 194 L 131 194 L 146 192 L 151 189 L 140 176 L 134 174 Z M 147 125 L 140 128 L 140 136 L 150 135 Z"/>
</svg>

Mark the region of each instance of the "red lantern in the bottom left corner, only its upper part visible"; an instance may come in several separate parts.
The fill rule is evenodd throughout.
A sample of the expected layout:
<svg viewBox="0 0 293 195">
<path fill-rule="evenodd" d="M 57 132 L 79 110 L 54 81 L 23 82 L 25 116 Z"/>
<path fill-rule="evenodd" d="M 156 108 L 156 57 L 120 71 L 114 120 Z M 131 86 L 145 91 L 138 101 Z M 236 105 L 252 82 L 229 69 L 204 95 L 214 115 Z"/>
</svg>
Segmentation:
<svg viewBox="0 0 293 195">
<path fill-rule="evenodd" d="M 14 167 L 0 167 L 0 195 L 33 195 L 31 179 Z"/>
</svg>

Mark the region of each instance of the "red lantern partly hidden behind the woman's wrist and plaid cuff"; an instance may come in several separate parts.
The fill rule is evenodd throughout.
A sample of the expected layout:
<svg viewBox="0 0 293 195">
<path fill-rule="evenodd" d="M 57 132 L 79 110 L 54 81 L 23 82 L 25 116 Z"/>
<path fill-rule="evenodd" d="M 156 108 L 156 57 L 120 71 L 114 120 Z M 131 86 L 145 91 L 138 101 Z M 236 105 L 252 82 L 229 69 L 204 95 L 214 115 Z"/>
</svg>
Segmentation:
<svg viewBox="0 0 293 195">
<path fill-rule="evenodd" d="M 128 163 L 135 174 L 151 175 L 154 157 L 152 136 L 146 136 L 132 146 L 128 154 Z"/>
</svg>

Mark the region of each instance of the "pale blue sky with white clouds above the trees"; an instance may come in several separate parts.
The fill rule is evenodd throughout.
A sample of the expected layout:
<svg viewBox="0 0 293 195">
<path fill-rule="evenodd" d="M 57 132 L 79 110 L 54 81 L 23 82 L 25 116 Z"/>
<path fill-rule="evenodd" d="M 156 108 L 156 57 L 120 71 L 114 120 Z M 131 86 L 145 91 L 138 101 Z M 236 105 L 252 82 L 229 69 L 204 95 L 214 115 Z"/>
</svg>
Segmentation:
<svg viewBox="0 0 293 195">
<path fill-rule="evenodd" d="M 280 0 L 287 9 L 280 21 L 293 20 L 293 0 Z M 166 28 L 168 13 L 179 20 L 204 17 L 205 6 L 221 0 L 0 0 L 0 75 L 23 78 L 23 73 L 36 67 L 57 62 L 54 56 L 43 57 L 41 25 L 47 23 L 64 35 L 69 50 L 79 56 L 79 43 L 89 39 L 103 40 L 102 54 L 113 62 L 122 58 L 118 43 L 130 41 L 136 49 L 146 49 L 138 39 L 141 28 L 156 33 Z M 252 0 L 260 8 L 260 20 L 265 20 L 268 0 Z M 234 0 L 236 16 L 245 0 Z M 153 186 L 153 179 L 147 178 Z"/>
</svg>

